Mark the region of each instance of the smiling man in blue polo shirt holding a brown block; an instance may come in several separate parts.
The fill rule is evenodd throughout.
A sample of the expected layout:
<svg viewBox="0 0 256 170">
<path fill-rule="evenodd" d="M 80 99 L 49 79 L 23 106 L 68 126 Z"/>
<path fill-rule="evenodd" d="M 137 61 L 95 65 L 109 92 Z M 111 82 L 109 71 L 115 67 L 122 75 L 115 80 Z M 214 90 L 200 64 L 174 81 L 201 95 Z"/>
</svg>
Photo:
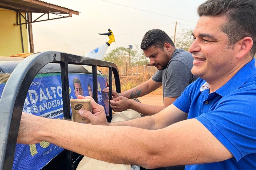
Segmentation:
<svg viewBox="0 0 256 170">
<path fill-rule="evenodd" d="M 94 114 L 79 113 L 98 126 L 24 113 L 18 142 L 45 140 L 146 168 L 256 169 L 256 1 L 209 0 L 197 11 L 189 52 L 191 71 L 200 78 L 173 104 L 152 116 L 108 124 L 103 107 L 92 100 Z"/>
</svg>

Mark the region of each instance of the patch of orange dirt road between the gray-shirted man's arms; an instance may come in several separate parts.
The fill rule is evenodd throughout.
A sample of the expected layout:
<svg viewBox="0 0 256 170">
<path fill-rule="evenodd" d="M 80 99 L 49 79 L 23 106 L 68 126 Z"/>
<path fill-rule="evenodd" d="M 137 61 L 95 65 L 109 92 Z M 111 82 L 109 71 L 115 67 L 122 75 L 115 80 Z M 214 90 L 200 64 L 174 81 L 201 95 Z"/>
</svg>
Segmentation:
<svg viewBox="0 0 256 170">
<path fill-rule="evenodd" d="M 145 95 L 138 97 L 141 103 L 163 106 L 163 95 Z"/>
</svg>

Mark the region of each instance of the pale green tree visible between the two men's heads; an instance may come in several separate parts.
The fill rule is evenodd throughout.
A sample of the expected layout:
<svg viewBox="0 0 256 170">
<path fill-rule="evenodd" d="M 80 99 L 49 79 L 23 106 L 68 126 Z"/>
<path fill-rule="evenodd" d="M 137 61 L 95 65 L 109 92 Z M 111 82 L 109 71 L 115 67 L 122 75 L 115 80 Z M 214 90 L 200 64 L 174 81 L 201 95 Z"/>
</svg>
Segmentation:
<svg viewBox="0 0 256 170">
<path fill-rule="evenodd" d="M 179 38 L 175 40 L 175 46 L 188 51 L 194 41 L 192 31 L 192 29 L 182 29 L 181 33 L 179 33 Z"/>
</svg>

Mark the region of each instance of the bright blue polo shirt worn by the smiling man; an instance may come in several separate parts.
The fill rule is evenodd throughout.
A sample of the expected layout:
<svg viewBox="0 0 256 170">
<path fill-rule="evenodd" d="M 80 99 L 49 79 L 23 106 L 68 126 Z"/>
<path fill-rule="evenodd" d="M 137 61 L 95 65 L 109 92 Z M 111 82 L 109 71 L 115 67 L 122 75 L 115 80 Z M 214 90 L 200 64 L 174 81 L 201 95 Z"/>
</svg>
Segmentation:
<svg viewBox="0 0 256 170">
<path fill-rule="evenodd" d="M 256 169 L 256 67 L 255 58 L 226 84 L 209 93 L 209 84 L 198 79 L 173 103 L 188 119 L 200 121 L 234 156 L 192 169 Z"/>
</svg>

